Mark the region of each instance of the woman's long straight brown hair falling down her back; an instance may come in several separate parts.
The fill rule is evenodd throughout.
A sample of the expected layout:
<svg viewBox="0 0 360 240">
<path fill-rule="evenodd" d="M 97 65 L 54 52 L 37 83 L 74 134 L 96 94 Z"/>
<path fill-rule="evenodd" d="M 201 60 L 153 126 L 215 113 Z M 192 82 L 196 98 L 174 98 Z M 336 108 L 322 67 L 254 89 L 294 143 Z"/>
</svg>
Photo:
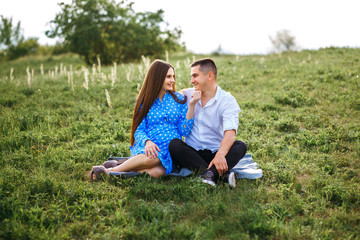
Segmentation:
<svg viewBox="0 0 360 240">
<path fill-rule="evenodd" d="M 150 68 L 145 76 L 144 83 L 141 87 L 140 93 L 136 98 L 133 121 L 131 125 L 131 146 L 134 146 L 134 134 L 136 129 L 138 128 L 144 117 L 148 114 L 156 98 L 159 96 L 169 68 L 172 68 L 175 72 L 173 66 L 161 60 L 155 60 L 150 65 Z M 175 91 L 175 83 L 173 84 L 173 91 Z M 171 94 L 171 96 L 176 102 L 181 104 L 184 104 L 186 102 L 186 97 L 183 101 L 180 101 L 172 91 L 168 92 Z"/>
</svg>

